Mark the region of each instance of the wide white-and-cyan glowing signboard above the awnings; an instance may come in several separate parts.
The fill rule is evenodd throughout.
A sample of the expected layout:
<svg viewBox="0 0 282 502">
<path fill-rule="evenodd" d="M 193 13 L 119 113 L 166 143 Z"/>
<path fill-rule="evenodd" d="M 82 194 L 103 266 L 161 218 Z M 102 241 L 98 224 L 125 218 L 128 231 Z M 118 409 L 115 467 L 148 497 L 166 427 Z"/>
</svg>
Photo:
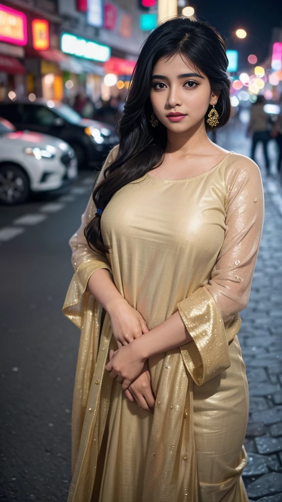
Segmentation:
<svg viewBox="0 0 282 502">
<path fill-rule="evenodd" d="M 92 40 L 77 37 L 71 33 L 62 33 L 61 50 L 79 58 L 105 62 L 111 55 L 110 47 L 98 44 Z"/>
</svg>

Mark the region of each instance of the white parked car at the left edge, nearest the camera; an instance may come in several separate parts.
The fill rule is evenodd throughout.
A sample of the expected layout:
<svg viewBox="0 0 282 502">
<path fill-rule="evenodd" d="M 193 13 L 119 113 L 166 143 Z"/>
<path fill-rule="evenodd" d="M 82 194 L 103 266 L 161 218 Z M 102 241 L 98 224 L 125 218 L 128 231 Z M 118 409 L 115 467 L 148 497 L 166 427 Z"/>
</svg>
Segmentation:
<svg viewBox="0 0 282 502">
<path fill-rule="evenodd" d="M 55 190 L 77 178 L 74 150 L 62 140 L 16 131 L 0 117 L 0 202 L 25 202 L 31 192 Z"/>
</svg>

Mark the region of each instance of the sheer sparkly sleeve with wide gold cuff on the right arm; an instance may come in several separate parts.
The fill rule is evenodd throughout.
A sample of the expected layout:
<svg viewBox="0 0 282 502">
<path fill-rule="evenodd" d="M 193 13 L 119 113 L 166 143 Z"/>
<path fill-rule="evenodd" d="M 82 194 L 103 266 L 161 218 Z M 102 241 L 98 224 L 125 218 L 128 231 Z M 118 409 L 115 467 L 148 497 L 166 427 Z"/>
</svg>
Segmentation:
<svg viewBox="0 0 282 502">
<path fill-rule="evenodd" d="M 226 167 L 225 235 L 209 283 L 177 304 L 193 341 L 180 347 L 200 386 L 230 366 L 228 345 L 249 300 L 264 218 L 258 166 L 245 156 Z"/>
</svg>

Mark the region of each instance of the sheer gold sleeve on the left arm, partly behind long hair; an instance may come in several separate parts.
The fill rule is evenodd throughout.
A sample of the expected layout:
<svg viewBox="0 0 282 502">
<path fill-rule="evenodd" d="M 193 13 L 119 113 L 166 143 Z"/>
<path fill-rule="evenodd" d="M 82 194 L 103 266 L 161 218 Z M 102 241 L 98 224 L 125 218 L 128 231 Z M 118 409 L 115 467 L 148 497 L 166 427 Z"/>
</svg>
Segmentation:
<svg viewBox="0 0 282 502">
<path fill-rule="evenodd" d="M 109 152 L 96 179 L 95 186 L 103 179 L 104 170 L 116 158 L 117 152 L 118 145 Z M 82 214 L 81 225 L 69 240 L 72 250 L 71 262 L 75 273 L 69 285 L 62 312 L 79 328 L 81 328 L 83 303 L 90 276 L 99 269 L 107 269 L 111 273 L 111 267 L 106 254 L 92 250 L 88 246 L 84 236 L 84 228 L 95 216 L 95 212 L 96 206 L 91 195 L 86 209 Z"/>
</svg>

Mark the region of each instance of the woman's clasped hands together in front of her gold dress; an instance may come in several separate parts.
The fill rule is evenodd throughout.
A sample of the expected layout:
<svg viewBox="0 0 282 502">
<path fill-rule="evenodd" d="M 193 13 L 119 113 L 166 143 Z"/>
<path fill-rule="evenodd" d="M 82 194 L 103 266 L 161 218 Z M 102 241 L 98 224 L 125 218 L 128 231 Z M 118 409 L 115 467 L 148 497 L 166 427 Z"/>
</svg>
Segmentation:
<svg viewBox="0 0 282 502">
<path fill-rule="evenodd" d="M 137 340 L 149 331 L 146 321 L 125 299 L 111 305 L 108 313 L 118 349 L 110 350 L 105 368 L 121 384 L 129 401 L 153 413 L 155 396 L 149 364 L 140 353 Z"/>
</svg>

